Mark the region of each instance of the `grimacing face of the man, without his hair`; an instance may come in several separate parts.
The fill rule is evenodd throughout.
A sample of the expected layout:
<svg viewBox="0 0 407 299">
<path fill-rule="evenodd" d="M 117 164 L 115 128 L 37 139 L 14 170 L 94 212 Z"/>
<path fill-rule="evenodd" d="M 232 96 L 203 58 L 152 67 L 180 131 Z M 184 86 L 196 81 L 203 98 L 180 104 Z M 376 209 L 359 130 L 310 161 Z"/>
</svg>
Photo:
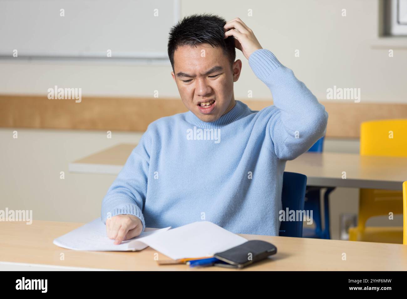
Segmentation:
<svg viewBox="0 0 407 299">
<path fill-rule="evenodd" d="M 232 70 L 221 48 L 181 46 L 174 52 L 171 74 L 184 105 L 200 120 L 213 122 L 233 108 L 233 82 L 239 79 L 241 67 L 236 60 Z"/>
</svg>

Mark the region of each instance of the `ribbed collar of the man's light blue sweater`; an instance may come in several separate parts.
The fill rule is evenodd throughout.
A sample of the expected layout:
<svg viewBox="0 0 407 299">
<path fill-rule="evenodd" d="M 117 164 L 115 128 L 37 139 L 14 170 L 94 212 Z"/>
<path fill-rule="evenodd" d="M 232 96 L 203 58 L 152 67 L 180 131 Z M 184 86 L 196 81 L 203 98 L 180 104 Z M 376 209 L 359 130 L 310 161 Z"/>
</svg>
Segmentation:
<svg viewBox="0 0 407 299">
<path fill-rule="evenodd" d="M 223 114 L 220 118 L 215 120 L 214 122 L 204 122 L 200 120 L 193 112 L 188 111 L 186 112 L 186 121 L 190 122 L 191 124 L 199 127 L 199 128 L 219 128 L 223 127 L 235 120 L 240 119 L 248 110 L 249 107 L 239 100 L 235 100 L 236 104 L 230 111 L 226 114 Z"/>
</svg>

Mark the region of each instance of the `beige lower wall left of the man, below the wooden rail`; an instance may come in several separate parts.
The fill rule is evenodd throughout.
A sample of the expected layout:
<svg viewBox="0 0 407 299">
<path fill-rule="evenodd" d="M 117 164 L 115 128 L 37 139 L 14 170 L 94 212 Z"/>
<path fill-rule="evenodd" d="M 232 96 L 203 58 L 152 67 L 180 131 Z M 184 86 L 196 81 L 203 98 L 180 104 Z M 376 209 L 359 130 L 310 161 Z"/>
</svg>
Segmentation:
<svg viewBox="0 0 407 299">
<path fill-rule="evenodd" d="M 0 129 L 0 209 L 33 210 L 33 218 L 88 222 L 100 217 L 114 175 L 72 174 L 68 163 L 117 143 L 137 143 L 141 133 Z M 65 179 L 60 179 L 60 172 Z"/>
</svg>

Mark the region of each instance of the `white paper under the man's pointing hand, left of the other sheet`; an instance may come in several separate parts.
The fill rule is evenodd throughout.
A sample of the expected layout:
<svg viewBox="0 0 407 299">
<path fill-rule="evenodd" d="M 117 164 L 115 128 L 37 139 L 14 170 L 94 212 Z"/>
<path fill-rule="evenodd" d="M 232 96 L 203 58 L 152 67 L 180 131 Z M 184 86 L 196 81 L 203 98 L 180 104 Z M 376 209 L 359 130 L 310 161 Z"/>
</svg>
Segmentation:
<svg viewBox="0 0 407 299">
<path fill-rule="evenodd" d="M 113 244 L 114 240 L 109 239 L 106 235 L 106 225 L 101 218 L 98 218 L 56 238 L 53 243 L 59 247 L 82 251 L 138 251 L 149 246 L 142 242 L 144 237 L 162 233 L 170 228 L 155 229 L 146 227 L 140 236 L 115 245 Z"/>
</svg>

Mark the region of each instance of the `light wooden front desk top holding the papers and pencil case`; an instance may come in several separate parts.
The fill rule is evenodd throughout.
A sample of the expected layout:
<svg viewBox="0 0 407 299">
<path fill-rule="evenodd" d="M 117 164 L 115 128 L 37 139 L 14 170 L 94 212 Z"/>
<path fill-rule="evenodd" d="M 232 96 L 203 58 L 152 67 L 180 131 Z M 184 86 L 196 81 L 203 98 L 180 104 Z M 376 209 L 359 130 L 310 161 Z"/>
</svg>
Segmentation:
<svg viewBox="0 0 407 299">
<path fill-rule="evenodd" d="M 68 267 L 135 271 L 407 271 L 407 246 L 401 244 L 352 242 L 241 234 L 248 240 L 265 240 L 277 247 L 276 255 L 241 270 L 221 267 L 189 268 L 186 265 L 158 266 L 156 251 L 147 247 L 136 252 L 74 251 L 53 240 L 78 228 L 81 223 L 34 220 L 0 223 L 0 270 L 18 262 Z M 60 260 L 64 253 L 64 260 Z M 346 253 L 346 260 L 342 254 Z M 159 259 L 168 259 L 161 253 Z"/>
</svg>

